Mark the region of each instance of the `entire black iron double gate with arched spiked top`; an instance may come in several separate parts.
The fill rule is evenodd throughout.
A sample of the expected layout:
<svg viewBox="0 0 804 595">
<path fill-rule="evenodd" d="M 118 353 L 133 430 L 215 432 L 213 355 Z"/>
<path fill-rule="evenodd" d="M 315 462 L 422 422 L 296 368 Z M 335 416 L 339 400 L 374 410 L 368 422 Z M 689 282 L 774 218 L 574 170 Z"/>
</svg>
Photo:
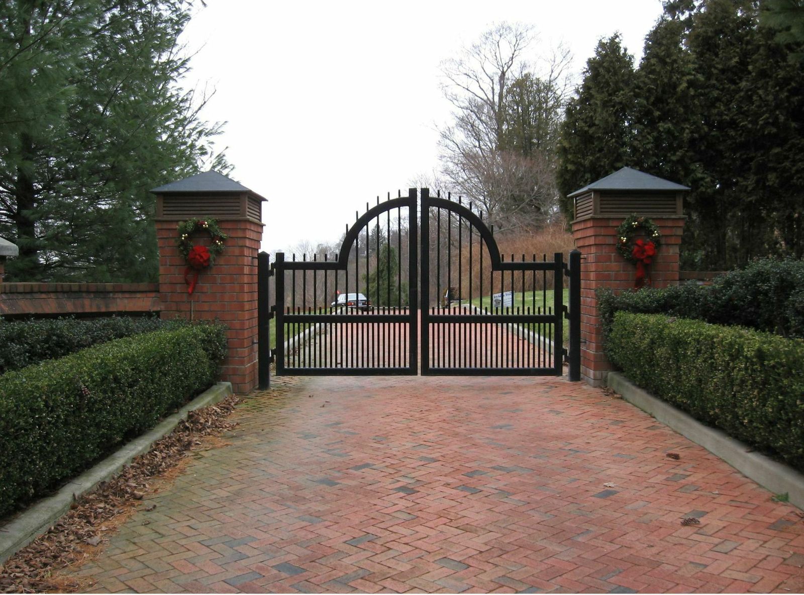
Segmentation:
<svg viewBox="0 0 804 595">
<path fill-rule="evenodd" d="M 577 250 L 506 261 L 471 205 L 427 188 L 355 218 L 332 258 L 277 253 L 277 374 L 561 375 L 566 358 L 580 379 Z"/>
</svg>

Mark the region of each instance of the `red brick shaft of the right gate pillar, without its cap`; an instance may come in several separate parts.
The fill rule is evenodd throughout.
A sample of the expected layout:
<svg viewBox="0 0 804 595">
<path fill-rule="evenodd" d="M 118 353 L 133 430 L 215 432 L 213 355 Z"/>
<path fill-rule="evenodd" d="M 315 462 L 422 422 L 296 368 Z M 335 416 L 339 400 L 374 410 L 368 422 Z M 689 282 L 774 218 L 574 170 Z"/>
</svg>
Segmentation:
<svg viewBox="0 0 804 595">
<path fill-rule="evenodd" d="M 572 237 L 583 258 L 580 267 L 580 374 L 592 386 L 601 386 L 612 370 L 603 353 L 600 315 L 595 291 L 633 291 L 636 266 L 617 252 L 617 227 L 625 217 L 591 216 L 572 221 Z M 651 287 L 679 284 L 679 245 L 686 217 L 652 220 L 662 232 L 658 254 L 650 265 Z"/>
</svg>

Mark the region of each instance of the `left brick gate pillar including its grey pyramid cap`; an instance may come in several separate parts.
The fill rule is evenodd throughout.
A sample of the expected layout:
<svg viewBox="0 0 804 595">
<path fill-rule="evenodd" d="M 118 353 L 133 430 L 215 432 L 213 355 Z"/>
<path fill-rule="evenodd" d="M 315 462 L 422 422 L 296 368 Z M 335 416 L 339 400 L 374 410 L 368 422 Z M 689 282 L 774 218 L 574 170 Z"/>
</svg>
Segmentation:
<svg viewBox="0 0 804 595">
<path fill-rule="evenodd" d="M 234 180 L 207 171 L 152 191 L 157 195 L 159 296 L 162 318 L 220 320 L 228 326 L 228 357 L 221 379 L 244 395 L 257 378 L 257 254 L 265 199 Z M 224 233 L 224 252 L 200 272 L 195 291 L 187 293 L 187 267 L 178 251 L 178 224 L 190 218 L 214 218 Z M 193 244 L 210 242 L 196 233 Z"/>
</svg>

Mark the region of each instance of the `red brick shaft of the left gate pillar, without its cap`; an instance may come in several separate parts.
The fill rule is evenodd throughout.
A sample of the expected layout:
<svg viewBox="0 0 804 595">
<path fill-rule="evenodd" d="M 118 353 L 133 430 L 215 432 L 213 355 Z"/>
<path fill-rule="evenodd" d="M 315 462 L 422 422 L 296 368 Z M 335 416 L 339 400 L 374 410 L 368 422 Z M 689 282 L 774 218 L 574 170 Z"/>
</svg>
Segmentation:
<svg viewBox="0 0 804 595">
<path fill-rule="evenodd" d="M 187 263 L 178 251 L 179 221 L 156 222 L 162 318 L 224 322 L 229 328 L 229 353 L 221 379 L 232 382 L 236 393 L 245 394 L 257 386 L 256 256 L 263 225 L 217 219 L 220 229 L 228 234 L 224 252 L 214 265 L 201 271 L 192 295 L 184 282 Z M 194 244 L 209 241 L 203 233 L 193 238 Z"/>
</svg>

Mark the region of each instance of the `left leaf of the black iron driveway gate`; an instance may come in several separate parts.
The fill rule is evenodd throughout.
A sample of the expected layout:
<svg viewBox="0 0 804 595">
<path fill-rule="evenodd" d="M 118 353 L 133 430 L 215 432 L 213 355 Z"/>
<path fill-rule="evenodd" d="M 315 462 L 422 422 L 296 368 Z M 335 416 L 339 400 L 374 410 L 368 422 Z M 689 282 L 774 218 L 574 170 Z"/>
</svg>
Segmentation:
<svg viewBox="0 0 804 595">
<path fill-rule="evenodd" d="M 331 260 L 277 253 L 277 374 L 417 373 L 416 206 L 367 205 Z"/>
</svg>

